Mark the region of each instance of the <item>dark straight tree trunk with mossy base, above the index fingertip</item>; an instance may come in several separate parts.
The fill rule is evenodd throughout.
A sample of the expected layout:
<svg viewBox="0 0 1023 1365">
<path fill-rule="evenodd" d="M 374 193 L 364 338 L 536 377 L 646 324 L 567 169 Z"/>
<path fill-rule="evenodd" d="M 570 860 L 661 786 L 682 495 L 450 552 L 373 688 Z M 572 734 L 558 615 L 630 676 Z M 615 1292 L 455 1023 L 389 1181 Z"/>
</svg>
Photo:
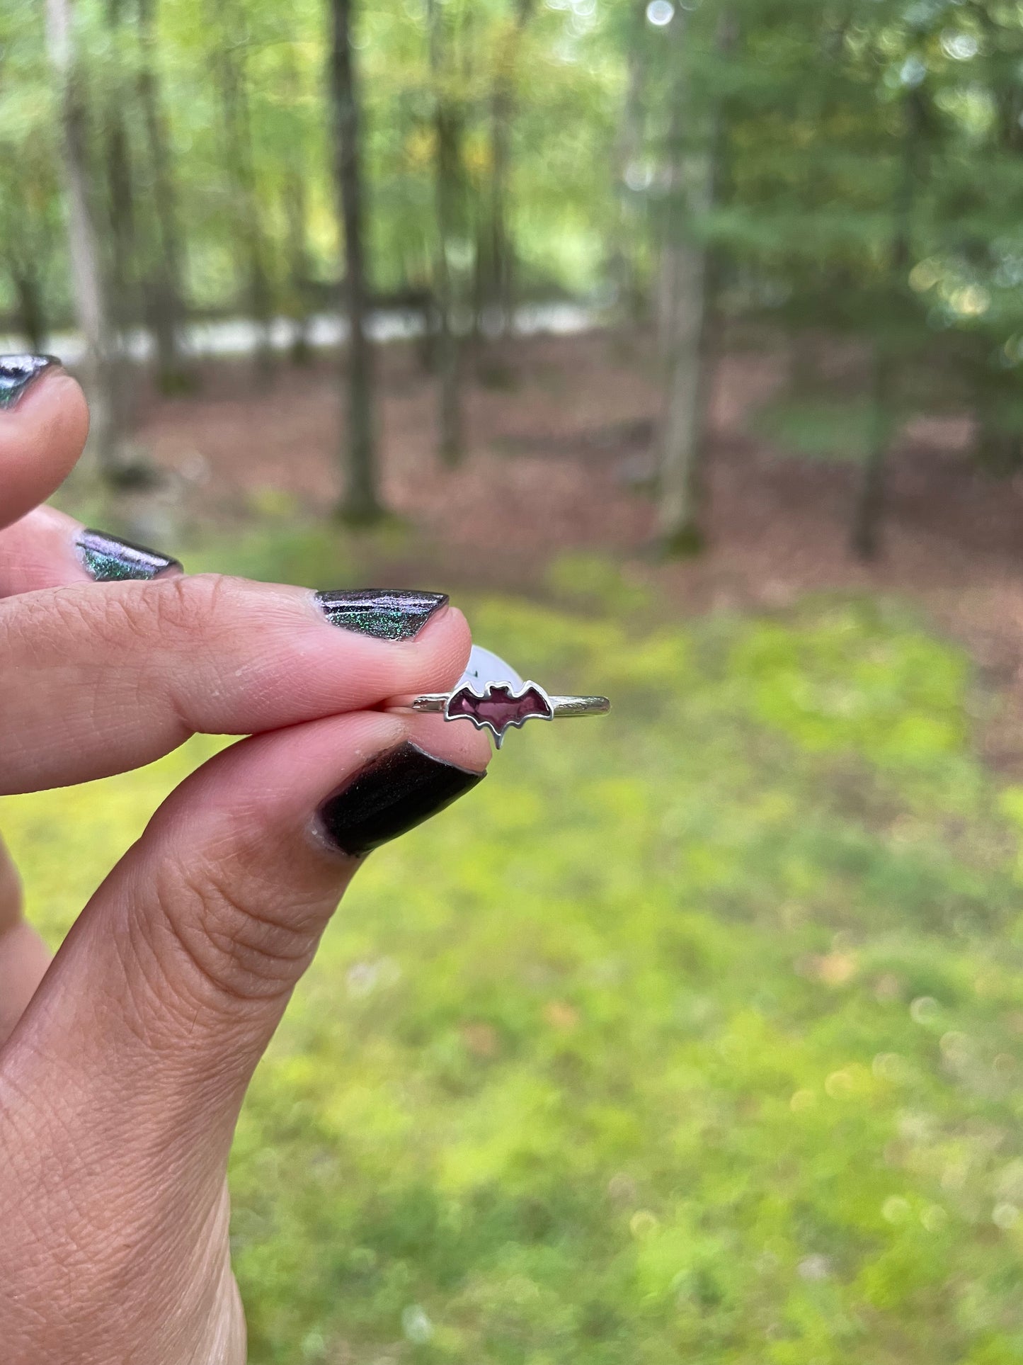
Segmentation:
<svg viewBox="0 0 1023 1365">
<path fill-rule="evenodd" d="M 348 434 L 344 449 L 344 494 L 338 513 L 367 524 L 383 516 L 374 427 L 374 349 L 366 330 L 368 291 L 363 235 L 361 109 L 352 59 L 353 0 L 330 0 L 333 19 L 330 93 L 334 113 L 334 168 L 345 235 L 348 299 Z"/>
</svg>

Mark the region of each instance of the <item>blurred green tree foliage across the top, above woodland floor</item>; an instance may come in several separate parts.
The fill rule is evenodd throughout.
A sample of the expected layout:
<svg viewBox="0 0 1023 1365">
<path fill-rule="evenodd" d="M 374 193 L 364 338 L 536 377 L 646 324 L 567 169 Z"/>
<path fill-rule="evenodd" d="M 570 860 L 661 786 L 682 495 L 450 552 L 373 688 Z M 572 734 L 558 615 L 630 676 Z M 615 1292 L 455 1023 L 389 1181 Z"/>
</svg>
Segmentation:
<svg viewBox="0 0 1023 1365">
<path fill-rule="evenodd" d="M 135 321 L 147 291 L 150 307 L 160 295 L 151 277 L 168 257 L 157 243 L 170 231 L 161 220 L 170 197 L 180 220 L 170 257 L 194 310 L 297 321 L 336 306 L 326 0 L 146 4 L 151 41 L 139 0 L 72 5 L 94 207 L 101 225 L 123 229 L 100 233 L 108 272 L 128 280 L 119 307 Z M 518 298 L 618 291 L 642 313 L 641 299 L 660 292 L 664 233 L 679 231 L 713 246 L 726 311 L 869 343 L 896 399 L 913 379 L 925 404 L 973 407 L 978 456 L 992 470 L 1016 467 L 1019 5 L 667 8 L 670 22 L 655 25 L 640 0 L 438 0 L 431 59 L 426 0 L 359 7 L 374 289 L 421 299 L 443 259 L 460 313 L 484 322 L 512 278 Z M 42 7 L 8 11 L 0 306 L 27 330 L 33 310 L 67 318 L 68 253 Z M 165 157 L 139 108 L 143 71 Z M 443 251 L 438 105 L 457 183 Z M 113 212 L 113 130 L 131 214 Z M 712 205 L 700 188 L 709 183 Z"/>
</svg>

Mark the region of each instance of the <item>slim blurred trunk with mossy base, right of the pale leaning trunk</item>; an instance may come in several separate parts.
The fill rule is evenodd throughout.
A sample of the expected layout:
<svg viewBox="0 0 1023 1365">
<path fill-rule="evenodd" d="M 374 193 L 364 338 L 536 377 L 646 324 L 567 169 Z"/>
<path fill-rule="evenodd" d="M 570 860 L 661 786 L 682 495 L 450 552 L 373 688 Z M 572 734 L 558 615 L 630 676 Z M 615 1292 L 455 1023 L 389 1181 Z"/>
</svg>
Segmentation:
<svg viewBox="0 0 1023 1365">
<path fill-rule="evenodd" d="M 180 393 L 192 388 L 191 375 L 181 352 L 180 326 L 184 313 L 181 287 L 181 238 L 179 231 L 177 190 L 170 167 L 170 139 L 164 117 L 160 79 L 155 67 L 155 7 L 157 0 L 138 0 L 139 14 L 139 72 L 138 96 L 146 132 L 150 172 L 153 176 L 153 207 L 155 216 L 155 251 L 146 272 L 146 318 L 157 349 L 157 384 L 164 393 Z"/>
</svg>

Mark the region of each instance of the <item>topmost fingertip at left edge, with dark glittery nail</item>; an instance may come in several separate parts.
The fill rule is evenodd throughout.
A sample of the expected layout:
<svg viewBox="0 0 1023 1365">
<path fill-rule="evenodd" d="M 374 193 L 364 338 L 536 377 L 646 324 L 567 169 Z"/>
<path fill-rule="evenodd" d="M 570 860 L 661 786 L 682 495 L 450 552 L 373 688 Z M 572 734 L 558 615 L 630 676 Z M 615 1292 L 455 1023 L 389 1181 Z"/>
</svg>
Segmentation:
<svg viewBox="0 0 1023 1365">
<path fill-rule="evenodd" d="M 85 448 L 89 410 L 53 356 L 0 356 L 0 526 L 57 489 Z"/>
</svg>

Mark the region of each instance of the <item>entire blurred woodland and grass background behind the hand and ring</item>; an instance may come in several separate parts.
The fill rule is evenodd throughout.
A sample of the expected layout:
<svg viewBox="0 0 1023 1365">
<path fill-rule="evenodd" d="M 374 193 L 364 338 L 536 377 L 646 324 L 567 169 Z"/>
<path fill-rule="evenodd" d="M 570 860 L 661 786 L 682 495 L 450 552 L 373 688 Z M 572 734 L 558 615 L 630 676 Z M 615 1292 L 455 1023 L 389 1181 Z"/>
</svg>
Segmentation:
<svg viewBox="0 0 1023 1365">
<path fill-rule="evenodd" d="M 254 1365 L 1023 1360 L 1022 222 L 1009 0 L 0 7 L 60 505 L 615 703 L 327 932 Z M 218 743 L 0 805 L 50 942 Z"/>
</svg>

